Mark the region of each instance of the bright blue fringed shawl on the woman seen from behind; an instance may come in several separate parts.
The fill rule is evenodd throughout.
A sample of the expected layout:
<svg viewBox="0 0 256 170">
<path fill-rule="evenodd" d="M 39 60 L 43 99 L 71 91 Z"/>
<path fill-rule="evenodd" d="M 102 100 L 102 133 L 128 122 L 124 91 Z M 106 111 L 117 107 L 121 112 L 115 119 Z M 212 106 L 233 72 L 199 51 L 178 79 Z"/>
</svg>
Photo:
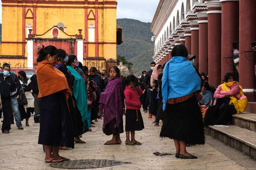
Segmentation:
<svg viewBox="0 0 256 170">
<path fill-rule="evenodd" d="M 172 57 L 163 70 L 163 110 L 167 100 L 191 94 L 201 88 L 201 79 L 185 57 Z"/>
</svg>

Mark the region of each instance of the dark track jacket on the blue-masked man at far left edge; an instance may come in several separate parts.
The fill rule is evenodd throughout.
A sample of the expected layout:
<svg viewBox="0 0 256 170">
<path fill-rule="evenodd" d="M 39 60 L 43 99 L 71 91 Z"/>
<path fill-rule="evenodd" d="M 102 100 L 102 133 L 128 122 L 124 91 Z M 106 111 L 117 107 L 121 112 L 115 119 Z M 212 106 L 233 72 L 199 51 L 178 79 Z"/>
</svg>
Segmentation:
<svg viewBox="0 0 256 170">
<path fill-rule="evenodd" d="M 4 75 L 0 75 L 0 94 L 1 99 L 8 99 L 17 93 L 17 85 L 11 74 L 4 78 Z"/>
</svg>

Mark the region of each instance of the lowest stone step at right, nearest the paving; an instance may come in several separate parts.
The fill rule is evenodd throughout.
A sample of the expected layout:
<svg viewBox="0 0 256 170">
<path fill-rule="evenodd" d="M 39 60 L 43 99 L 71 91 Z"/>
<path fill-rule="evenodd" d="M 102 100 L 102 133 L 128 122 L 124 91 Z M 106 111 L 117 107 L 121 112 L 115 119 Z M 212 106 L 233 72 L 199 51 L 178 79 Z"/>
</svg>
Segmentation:
<svg viewBox="0 0 256 170">
<path fill-rule="evenodd" d="M 233 124 L 206 127 L 207 134 L 256 159 L 256 132 Z"/>
</svg>

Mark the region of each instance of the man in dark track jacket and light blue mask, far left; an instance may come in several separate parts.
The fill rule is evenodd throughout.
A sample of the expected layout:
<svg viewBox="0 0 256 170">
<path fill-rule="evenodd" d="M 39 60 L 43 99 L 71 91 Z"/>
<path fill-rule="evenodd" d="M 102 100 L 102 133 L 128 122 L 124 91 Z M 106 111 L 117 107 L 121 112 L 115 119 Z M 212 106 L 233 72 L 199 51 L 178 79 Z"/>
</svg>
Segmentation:
<svg viewBox="0 0 256 170">
<path fill-rule="evenodd" d="M 2 74 L 0 75 L 0 95 L 2 100 L 2 111 L 4 120 L 2 124 L 2 133 L 10 133 L 10 108 L 11 97 L 17 93 L 17 85 L 10 74 L 10 65 L 5 63 L 2 67 Z"/>
</svg>

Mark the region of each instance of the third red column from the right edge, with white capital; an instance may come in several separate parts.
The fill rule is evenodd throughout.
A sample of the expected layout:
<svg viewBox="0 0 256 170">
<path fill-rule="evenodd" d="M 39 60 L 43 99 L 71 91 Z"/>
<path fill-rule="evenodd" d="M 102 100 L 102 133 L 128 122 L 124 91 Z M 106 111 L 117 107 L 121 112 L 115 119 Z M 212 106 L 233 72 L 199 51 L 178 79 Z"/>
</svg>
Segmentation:
<svg viewBox="0 0 256 170">
<path fill-rule="evenodd" d="M 204 1 L 208 11 L 208 81 L 209 84 L 217 88 L 222 82 L 224 76 L 222 72 L 221 54 L 221 3 L 219 0 Z"/>
</svg>

